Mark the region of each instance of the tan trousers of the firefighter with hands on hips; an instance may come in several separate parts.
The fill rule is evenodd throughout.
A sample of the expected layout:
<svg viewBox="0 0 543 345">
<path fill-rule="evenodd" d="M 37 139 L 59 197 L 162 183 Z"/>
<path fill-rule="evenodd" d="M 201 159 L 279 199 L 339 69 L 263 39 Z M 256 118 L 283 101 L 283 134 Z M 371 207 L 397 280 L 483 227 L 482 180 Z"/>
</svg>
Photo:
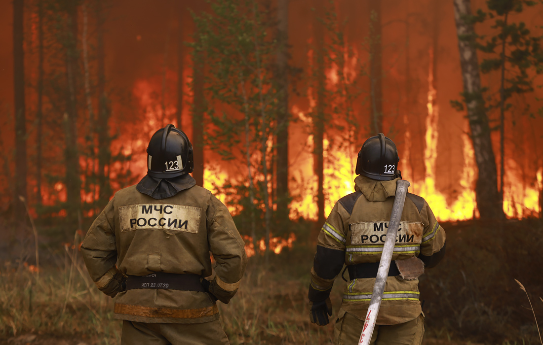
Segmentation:
<svg viewBox="0 0 543 345">
<path fill-rule="evenodd" d="M 229 345 L 219 320 L 203 323 L 143 323 L 123 320 L 121 345 Z"/>
</svg>

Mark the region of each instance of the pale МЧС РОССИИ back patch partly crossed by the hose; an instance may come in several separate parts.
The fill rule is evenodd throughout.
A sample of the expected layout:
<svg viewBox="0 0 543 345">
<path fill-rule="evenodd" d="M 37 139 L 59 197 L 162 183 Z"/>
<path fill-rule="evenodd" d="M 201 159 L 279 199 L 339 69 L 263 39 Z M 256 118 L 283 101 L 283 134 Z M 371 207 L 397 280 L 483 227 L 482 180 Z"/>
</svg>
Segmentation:
<svg viewBox="0 0 543 345">
<path fill-rule="evenodd" d="M 382 245 L 387 238 L 388 222 L 353 223 L 351 229 L 351 244 L 353 245 Z M 396 235 L 397 244 L 420 244 L 424 226 L 419 222 L 401 222 Z"/>
</svg>

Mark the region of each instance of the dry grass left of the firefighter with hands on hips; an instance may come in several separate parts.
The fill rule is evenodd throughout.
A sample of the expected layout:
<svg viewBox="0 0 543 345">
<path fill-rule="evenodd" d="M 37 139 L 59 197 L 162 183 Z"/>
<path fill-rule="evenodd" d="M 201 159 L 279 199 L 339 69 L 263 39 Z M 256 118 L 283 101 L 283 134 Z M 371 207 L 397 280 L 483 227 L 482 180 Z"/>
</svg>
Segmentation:
<svg viewBox="0 0 543 345">
<path fill-rule="evenodd" d="M 1 267 L 0 342 L 28 333 L 119 342 L 121 323 L 113 319 L 112 299 L 96 289 L 77 250 L 67 249 L 65 260 L 42 266 L 39 275 L 33 266 Z"/>
</svg>

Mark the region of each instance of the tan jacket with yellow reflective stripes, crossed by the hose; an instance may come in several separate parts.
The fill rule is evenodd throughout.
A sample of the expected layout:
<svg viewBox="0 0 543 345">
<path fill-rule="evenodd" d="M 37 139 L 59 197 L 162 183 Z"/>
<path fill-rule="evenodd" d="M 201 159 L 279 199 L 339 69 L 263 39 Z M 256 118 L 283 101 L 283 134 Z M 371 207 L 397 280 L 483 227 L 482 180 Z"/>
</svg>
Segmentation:
<svg viewBox="0 0 543 345">
<path fill-rule="evenodd" d="M 397 180 L 398 178 L 392 181 L 377 181 L 362 175 L 357 176 L 356 192 L 343 197 L 333 207 L 319 233 L 317 254 L 311 270 L 310 298 L 312 292 L 314 296 L 319 293 L 325 296 L 326 291 L 330 293 L 343 264 L 349 266 L 380 261 Z M 408 193 L 392 260 L 414 256 L 431 257 L 440 252 L 444 244 L 445 231 L 426 201 L 420 196 Z M 347 282 L 342 309 L 364 320 L 374 283 L 375 278 L 353 279 Z M 403 323 L 420 314 L 418 279 L 388 277 L 376 323 Z"/>
</svg>

